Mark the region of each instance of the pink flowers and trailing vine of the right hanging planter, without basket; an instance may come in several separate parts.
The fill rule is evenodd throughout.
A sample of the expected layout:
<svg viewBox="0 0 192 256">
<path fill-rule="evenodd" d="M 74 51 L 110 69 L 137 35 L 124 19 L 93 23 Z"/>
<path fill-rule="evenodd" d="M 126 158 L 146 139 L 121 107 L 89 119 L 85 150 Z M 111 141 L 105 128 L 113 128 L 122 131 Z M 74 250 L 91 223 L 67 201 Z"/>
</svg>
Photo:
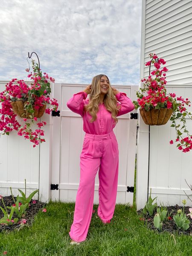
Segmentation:
<svg viewBox="0 0 192 256">
<path fill-rule="evenodd" d="M 149 75 L 148 79 L 141 79 L 143 88 L 137 91 L 138 99 L 133 102 L 135 108 L 143 108 L 146 111 L 152 108 L 171 108 L 173 113 L 170 121 L 172 121 L 171 127 L 175 127 L 177 134 L 175 140 L 175 142 L 177 142 L 177 148 L 183 152 L 188 152 L 192 149 L 192 135 L 186 128 L 186 117 L 192 119 L 192 114 L 188 112 L 186 107 L 190 107 L 191 102 L 188 98 L 184 99 L 182 96 L 177 97 L 175 93 L 166 92 L 164 85 L 167 83 L 166 71 L 168 71 L 168 69 L 166 67 L 160 69 L 162 64 L 166 64 L 166 61 L 160 58 L 157 62 L 156 59 L 158 56 L 155 53 L 150 53 L 149 55 L 151 61 L 148 61 L 145 66 L 154 64 L 155 70 L 151 72 L 151 75 L 154 75 L 155 78 Z M 179 123 L 177 121 L 179 121 Z M 174 141 L 171 140 L 169 143 L 173 144 Z"/>
</svg>

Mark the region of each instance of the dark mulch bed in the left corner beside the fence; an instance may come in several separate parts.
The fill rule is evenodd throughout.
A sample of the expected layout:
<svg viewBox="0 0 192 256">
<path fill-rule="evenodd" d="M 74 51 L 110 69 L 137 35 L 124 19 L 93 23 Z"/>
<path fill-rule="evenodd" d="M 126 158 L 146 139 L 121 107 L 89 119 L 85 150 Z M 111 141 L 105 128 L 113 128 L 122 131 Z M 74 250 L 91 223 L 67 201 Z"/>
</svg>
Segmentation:
<svg viewBox="0 0 192 256">
<path fill-rule="evenodd" d="M 16 197 L 14 197 L 14 199 L 15 199 L 15 201 L 17 200 Z M 11 195 L 10 196 L 4 196 L 3 201 L 4 201 L 4 204 L 6 206 L 12 206 L 12 204 L 15 204 Z M 0 224 L 0 232 L 2 232 L 3 230 L 11 231 L 11 230 L 15 230 L 15 229 L 20 229 L 21 227 L 31 225 L 32 222 L 34 221 L 34 217 L 38 213 L 38 211 L 40 211 L 40 210 L 42 210 L 46 207 L 45 203 L 42 203 L 38 200 L 35 200 L 36 204 L 33 204 L 32 201 L 33 201 L 33 199 L 30 201 L 30 206 L 29 206 L 29 209 L 27 209 L 27 211 L 26 211 L 26 215 L 21 218 L 21 219 L 26 220 L 26 224 L 16 223 L 16 224 L 12 224 L 12 225 L 9 225 L 9 226 L 4 225 L 4 224 Z M 0 206 L 3 209 L 5 209 L 4 206 L 3 206 L 2 200 L 0 200 Z M 8 213 L 10 213 L 10 209 L 8 209 Z M 0 218 L 3 218 L 3 216 L 4 216 L 4 214 L 3 214 L 2 210 L 0 209 Z M 17 215 L 15 213 L 13 214 L 12 219 L 14 219 L 14 218 L 17 218 Z M 20 219 L 18 221 L 20 221 Z"/>
</svg>

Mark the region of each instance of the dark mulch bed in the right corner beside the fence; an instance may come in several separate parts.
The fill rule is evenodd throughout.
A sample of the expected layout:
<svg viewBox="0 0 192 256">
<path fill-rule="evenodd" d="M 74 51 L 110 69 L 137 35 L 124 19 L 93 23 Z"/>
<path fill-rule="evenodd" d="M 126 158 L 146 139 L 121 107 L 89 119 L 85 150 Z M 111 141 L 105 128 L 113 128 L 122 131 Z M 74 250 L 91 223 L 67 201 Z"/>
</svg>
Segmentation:
<svg viewBox="0 0 192 256">
<path fill-rule="evenodd" d="M 184 209 L 184 213 L 188 214 L 189 208 L 191 208 L 191 207 L 186 206 Z M 190 216 L 187 216 L 188 219 L 190 220 L 189 229 L 188 230 L 181 230 L 181 229 L 177 230 L 177 226 L 176 226 L 175 222 L 173 221 L 173 216 L 177 214 L 178 209 L 182 209 L 182 211 L 183 211 L 183 207 L 180 207 L 177 204 L 175 206 L 167 207 L 167 211 L 168 211 L 167 216 L 170 216 L 171 219 L 168 220 L 168 218 L 167 218 L 166 221 L 163 221 L 162 232 L 169 232 L 169 233 L 177 232 L 178 234 L 192 236 L 192 219 L 190 218 Z M 140 221 L 144 221 L 148 228 L 150 228 L 151 230 L 157 230 L 157 228 L 154 227 L 154 224 L 153 224 L 154 215 L 156 213 L 155 211 L 154 211 L 153 216 L 149 216 L 148 214 L 145 216 L 143 214 L 143 209 L 140 209 L 139 211 L 137 211 L 137 213 L 141 217 Z M 157 230 L 157 232 L 161 233 L 158 230 Z"/>
</svg>

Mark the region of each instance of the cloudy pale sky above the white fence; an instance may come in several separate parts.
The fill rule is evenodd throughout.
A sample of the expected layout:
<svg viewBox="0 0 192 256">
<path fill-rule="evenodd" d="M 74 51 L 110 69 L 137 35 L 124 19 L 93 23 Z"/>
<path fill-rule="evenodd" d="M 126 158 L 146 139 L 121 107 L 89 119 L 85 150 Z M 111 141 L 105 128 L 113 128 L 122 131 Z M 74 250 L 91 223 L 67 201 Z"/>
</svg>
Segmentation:
<svg viewBox="0 0 192 256">
<path fill-rule="evenodd" d="M 1 0 L 0 80 L 26 80 L 36 52 L 55 82 L 87 84 L 104 73 L 111 84 L 139 84 L 141 3 Z"/>
</svg>

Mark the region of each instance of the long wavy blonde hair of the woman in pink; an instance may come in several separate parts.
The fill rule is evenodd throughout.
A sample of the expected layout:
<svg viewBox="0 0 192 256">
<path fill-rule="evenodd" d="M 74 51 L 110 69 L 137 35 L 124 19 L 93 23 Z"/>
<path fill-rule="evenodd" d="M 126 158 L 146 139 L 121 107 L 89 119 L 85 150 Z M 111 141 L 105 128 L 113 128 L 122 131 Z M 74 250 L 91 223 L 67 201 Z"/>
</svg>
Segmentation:
<svg viewBox="0 0 192 256">
<path fill-rule="evenodd" d="M 99 103 L 100 103 L 100 80 L 102 76 L 105 76 L 107 79 L 108 77 L 106 75 L 100 74 L 93 77 L 92 83 L 91 83 L 91 91 L 90 91 L 90 97 L 89 97 L 89 103 L 85 105 L 85 111 L 89 112 L 92 116 L 92 119 L 90 119 L 90 122 L 94 122 L 97 118 L 96 113 L 99 111 Z M 109 79 L 108 79 L 109 81 Z M 105 108 L 111 112 L 111 117 L 115 120 L 115 122 L 118 122 L 118 119 L 116 118 L 116 115 L 119 111 L 120 106 L 116 106 L 116 97 L 113 94 L 113 90 L 111 88 L 111 84 L 109 81 L 109 89 L 108 93 L 105 95 L 104 98 L 104 104 Z"/>
</svg>

